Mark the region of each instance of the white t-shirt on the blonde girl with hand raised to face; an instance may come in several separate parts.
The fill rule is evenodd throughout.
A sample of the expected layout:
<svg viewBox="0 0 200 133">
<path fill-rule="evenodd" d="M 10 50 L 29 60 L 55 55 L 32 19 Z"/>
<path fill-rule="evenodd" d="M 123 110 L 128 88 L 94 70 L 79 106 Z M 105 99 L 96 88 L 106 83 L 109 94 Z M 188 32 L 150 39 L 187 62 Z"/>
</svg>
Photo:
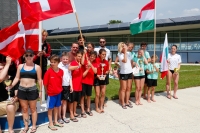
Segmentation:
<svg viewBox="0 0 200 133">
<path fill-rule="evenodd" d="M 131 66 L 132 54 L 130 52 L 127 52 L 126 63 L 122 62 L 122 60 L 124 59 L 124 53 L 118 53 L 117 56 L 119 58 L 120 74 L 132 73 L 132 66 Z"/>
</svg>

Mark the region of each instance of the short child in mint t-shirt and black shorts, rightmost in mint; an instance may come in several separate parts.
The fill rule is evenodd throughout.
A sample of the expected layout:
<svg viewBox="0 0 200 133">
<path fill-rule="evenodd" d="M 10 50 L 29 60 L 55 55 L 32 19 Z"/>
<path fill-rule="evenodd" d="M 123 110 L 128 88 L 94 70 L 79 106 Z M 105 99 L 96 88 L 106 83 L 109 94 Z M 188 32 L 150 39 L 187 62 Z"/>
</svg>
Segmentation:
<svg viewBox="0 0 200 133">
<path fill-rule="evenodd" d="M 151 56 L 151 63 L 148 63 L 146 66 L 146 73 L 147 73 L 147 86 L 148 86 L 148 96 L 147 101 L 150 103 L 151 101 L 156 102 L 154 98 L 155 89 L 157 86 L 157 79 L 158 79 L 158 72 L 159 72 L 159 64 L 156 63 L 158 56 L 154 55 Z M 151 97 L 150 97 L 151 93 Z"/>
</svg>

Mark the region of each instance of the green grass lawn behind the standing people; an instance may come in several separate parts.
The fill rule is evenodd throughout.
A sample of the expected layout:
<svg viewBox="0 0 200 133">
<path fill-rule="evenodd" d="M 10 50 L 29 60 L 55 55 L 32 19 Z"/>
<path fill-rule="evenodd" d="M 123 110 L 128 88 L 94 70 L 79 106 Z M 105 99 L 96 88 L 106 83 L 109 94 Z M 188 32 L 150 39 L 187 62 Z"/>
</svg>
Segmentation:
<svg viewBox="0 0 200 133">
<path fill-rule="evenodd" d="M 119 80 L 109 79 L 110 84 L 106 87 L 106 96 L 108 99 L 117 99 L 119 90 Z M 165 91 L 166 79 L 158 79 L 158 86 L 156 92 Z M 188 87 L 200 86 L 200 67 L 199 66 L 181 66 L 179 89 L 185 89 Z M 173 88 L 173 82 L 172 82 Z M 132 85 L 131 96 L 134 96 L 135 84 Z M 94 100 L 95 92 L 92 92 L 92 100 Z"/>
</svg>

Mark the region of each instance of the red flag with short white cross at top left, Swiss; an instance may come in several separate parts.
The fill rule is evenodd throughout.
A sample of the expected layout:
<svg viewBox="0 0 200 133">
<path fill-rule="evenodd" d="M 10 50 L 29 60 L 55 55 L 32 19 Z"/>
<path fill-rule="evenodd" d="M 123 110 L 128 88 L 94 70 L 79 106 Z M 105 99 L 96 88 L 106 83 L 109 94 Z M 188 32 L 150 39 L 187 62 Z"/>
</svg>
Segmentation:
<svg viewBox="0 0 200 133">
<path fill-rule="evenodd" d="M 18 0 L 23 23 L 33 23 L 76 12 L 73 0 Z"/>
</svg>

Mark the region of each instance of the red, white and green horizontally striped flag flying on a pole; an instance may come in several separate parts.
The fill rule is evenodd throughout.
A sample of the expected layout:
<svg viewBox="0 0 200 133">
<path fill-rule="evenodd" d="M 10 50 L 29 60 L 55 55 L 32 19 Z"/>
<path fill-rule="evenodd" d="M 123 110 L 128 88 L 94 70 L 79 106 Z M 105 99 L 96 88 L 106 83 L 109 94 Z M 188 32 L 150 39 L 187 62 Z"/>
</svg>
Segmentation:
<svg viewBox="0 0 200 133">
<path fill-rule="evenodd" d="M 138 34 L 146 30 L 154 29 L 155 23 L 155 0 L 145 5 L 138 17 L 130 24 L 131 34 Z"/>
</svg>

